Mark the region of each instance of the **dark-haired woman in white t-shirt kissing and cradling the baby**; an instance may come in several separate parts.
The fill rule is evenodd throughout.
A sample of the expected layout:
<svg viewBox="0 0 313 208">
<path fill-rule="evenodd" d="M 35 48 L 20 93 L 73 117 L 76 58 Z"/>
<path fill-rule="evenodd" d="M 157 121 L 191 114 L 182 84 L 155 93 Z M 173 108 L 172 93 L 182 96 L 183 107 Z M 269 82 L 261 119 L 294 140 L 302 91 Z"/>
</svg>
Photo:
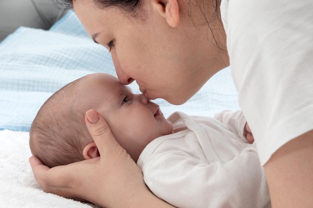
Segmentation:
<svg viewBox="0 0 313 208">
<path fill-rule="evenodd" d="M 71 3 L 94 42 L 110 50 L 120 82 L 136 80 L 149 99 L 182 104 L 230 62 L 272 207 L 311 207 L 313 4 L 309 0 Z M 140 170 L 102 117 L 90 110 L 86 125 L 101 157 L 52 169 L 31 157 L 34 176 L 44 191 L 107 208 L 171 207 L 149 193 Z"/>
</svg>

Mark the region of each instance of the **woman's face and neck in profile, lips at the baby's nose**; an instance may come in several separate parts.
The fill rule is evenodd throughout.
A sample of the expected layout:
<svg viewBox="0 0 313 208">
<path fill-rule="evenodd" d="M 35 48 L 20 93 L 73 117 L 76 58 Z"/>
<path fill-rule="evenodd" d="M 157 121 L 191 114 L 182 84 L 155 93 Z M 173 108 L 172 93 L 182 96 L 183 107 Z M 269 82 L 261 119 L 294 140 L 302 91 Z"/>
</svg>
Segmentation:
<svg viewBox="0 0 313 208">
<path fill-rule="evenodd" d="M 88 35 L 110 49 L 121 83 L 136 80 L 147 98 L 182 104 L 228 60 L 212 44 L 207 24 L 194 26 L 179 8 L 179 23 L 172 26 L 164 3 L 142 0 L 138 18 L 114 7 L 97 8 L 90 0 L 74 0 L 73 6 Z"/>
</svg>

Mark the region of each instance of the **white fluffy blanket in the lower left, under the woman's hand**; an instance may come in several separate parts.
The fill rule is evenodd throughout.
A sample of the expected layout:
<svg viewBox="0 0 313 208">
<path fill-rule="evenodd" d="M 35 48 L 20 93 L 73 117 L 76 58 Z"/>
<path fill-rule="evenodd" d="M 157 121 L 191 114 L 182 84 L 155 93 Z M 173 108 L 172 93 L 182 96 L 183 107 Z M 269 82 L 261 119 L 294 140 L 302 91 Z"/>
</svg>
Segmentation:
<svg viewBox="0 0 313 208">
<path fill-rule="evenodd" d="M 1 208 L 96 208 L 40 189 L 28 163 L 28 132 L 3 130 L 0 141 Z"/>
</svg>

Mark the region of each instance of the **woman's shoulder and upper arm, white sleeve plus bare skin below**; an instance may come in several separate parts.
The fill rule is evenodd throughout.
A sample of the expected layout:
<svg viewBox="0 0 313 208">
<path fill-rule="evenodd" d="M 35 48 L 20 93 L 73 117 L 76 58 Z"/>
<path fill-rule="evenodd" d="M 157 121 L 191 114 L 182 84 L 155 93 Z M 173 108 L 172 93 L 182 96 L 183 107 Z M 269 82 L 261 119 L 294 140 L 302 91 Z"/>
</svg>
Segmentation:
<svg viewBox="0 0 313 208">
<path fill-rule="evenodd" d="M 311 208 L 313 4 L 237 0 L 225 9 L 231 75 L 272 208 Z"/>
</svg>

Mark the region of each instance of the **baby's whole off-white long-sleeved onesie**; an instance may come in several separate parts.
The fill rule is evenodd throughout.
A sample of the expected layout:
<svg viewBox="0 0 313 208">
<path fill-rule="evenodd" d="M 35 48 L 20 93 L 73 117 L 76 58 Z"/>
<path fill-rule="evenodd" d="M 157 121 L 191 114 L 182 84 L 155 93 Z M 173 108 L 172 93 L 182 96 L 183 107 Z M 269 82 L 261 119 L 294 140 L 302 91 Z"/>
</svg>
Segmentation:
<svg viewBox="0 0 313 208">
<path fill-rule="evenodd" d="M 241 112 L 216 119 L 175 112 L 174 134 L 156 138 L 137 165 L 151 192 L 178 208 L 270 208 L 255 145 L 243 137 Z"/>
</svg>

